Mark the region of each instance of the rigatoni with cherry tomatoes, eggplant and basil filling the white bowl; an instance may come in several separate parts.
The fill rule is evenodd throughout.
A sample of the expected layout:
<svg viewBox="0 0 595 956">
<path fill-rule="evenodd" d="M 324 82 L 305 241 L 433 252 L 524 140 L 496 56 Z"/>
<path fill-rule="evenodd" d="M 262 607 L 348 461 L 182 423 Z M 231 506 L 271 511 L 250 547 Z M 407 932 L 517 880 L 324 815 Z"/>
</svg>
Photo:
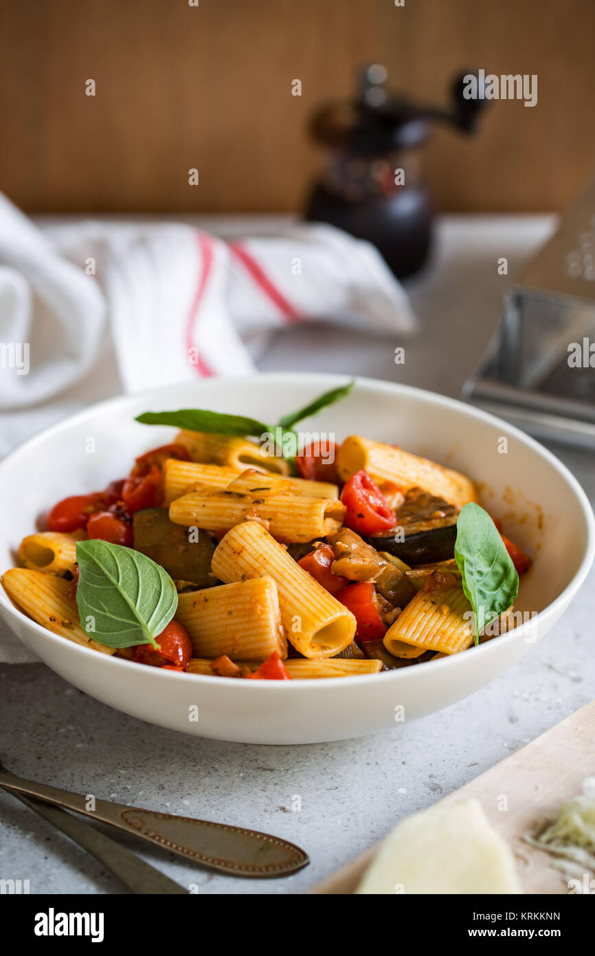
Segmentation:
<svg viewBox="0 0 595 956">
<path fill-rule="evenodd" d="M 514 626 L 530 558 L 471 477 L 396 445 L 341 444 L 202 409 L 106 489 L 64 498 L 2 576 L 54 634 L 136 663 L 242 680 L 417 666 Z"/>
</svg>

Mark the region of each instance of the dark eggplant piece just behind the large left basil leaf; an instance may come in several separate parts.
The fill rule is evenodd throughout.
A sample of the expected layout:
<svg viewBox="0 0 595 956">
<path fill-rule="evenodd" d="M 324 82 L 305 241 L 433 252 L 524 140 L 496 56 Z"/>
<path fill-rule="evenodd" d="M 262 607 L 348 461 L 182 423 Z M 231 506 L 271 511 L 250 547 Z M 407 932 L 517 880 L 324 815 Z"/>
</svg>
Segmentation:
<svg viewBox="0 0 595 956">
<path fill-rule="evenodd" d="M 188 529 L 169 520 L 166 508 L 146 508 L 134 516 L 135 548 L 165 568 L 184 586 L 210 588 L 218 584 L 211 572 L 215 542 L 206 532 L 190 541 Z"/>
</svg>

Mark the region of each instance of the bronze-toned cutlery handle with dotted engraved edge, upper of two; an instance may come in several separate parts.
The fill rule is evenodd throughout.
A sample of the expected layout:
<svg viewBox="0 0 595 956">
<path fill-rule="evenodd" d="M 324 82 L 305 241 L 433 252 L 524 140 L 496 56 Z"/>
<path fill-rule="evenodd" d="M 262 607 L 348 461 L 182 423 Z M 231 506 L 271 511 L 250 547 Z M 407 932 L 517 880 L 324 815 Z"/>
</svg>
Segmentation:
<svg viewBox="0 0 595 956">
<path fill-rule="evenodd" d="M 87 797 L 82 794 L 17 777 L 7 771 L 1 761 L 0 787 L 39 797 L 74 810 L 76 814 L 91 816 L 124 833 L 140 836 L 181 857 L 235 877 L 288 877 L 309 863 L 308 854 L 295 843 L 258 830 L 199 820 L 193 816 L 160 814 L 109 800 L 96 799 L 95 808 L 91 810 L 86 805 Z"/>
</svg>

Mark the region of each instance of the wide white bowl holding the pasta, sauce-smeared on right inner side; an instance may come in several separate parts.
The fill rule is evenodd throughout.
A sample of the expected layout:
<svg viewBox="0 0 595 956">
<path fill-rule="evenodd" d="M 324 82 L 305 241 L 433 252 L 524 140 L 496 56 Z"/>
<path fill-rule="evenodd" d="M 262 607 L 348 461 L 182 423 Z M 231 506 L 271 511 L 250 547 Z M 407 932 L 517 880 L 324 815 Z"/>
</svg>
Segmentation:
<svg viewBox="0 0 595 956">
<path fill-rule="evenodd" d="M 103 488 L 127 473 L 135 455 L 170 440 L 172 429 L 135 422 L 140 412 L 203 407 L 274 422 L 344 381 L 286 373 L 205 380 L 101 402 L 55 425 L 0 463 L 0 568 L 13 565 L 20 539 L 55 501 Z M 310 744 L 394 728 L 403 716 L 410 721 L 454 704 L 518 661 L 575 597 L 595 552 L 593 512 L 570 472 L 518 429 L 462 402 L 368 379 L 304 427 L 334 432 L 337 441 L 363 434 L 402 445 L 475 478 L 482 504 L 535 558 L 516 609 L 537 617 L 452 658 L 292 683 L 179 674 L 97 654 L 34 623 L 0 588 L 2 617 L 66 680 L 149 723 L 219 740 Z M 199 721 L 191 722 L 195 705 Z"/>
</svg>

